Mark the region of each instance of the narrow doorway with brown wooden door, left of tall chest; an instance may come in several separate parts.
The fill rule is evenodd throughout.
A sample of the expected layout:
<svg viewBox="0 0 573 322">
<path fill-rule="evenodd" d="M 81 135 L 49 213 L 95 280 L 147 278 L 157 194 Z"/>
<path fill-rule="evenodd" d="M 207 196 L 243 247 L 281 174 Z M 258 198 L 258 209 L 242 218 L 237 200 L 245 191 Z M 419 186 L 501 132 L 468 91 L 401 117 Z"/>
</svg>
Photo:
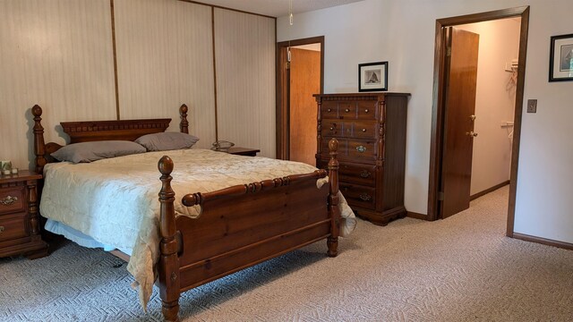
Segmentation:
<svg viewBox="0 0 573 322">
<path fill-rule="evenodd" d="M 322 94 L 324 37 L 277 44 L 277 158 L 315 165 L 316 101 Z"/>
</svg>

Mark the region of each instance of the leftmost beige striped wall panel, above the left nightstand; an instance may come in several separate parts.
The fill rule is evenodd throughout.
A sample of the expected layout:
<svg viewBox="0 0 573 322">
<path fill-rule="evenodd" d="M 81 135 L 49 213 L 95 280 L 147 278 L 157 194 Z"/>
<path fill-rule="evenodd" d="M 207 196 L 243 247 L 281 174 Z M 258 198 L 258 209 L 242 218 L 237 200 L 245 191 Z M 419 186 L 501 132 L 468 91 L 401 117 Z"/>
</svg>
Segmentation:
<svg viewBox="0 0 573 322">
<path fill-rule="evenodd" d="M 66 120 L 115 119 L 108 0 L 0 1 L 0 158 L 28 168 L 34 104 L 46 139 Z"/>
</svg>

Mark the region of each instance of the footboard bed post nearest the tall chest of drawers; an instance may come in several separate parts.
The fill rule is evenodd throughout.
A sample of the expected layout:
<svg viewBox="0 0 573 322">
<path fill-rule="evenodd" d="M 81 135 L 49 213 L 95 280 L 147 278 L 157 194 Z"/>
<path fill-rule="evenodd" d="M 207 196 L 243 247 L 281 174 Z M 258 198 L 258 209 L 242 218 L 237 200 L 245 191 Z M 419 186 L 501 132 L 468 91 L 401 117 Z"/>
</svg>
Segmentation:
<svg viewBox="0 0 573 322">
<path fill-rule="evenodd" d="M 332 138 L 329 141 L 329 216 L 330 216 L 330 235 L 327 239 L 329 246 L 329 257 L 338 255 L 338 229 L 340 209 L 338 208 L 338 140 Z"/>
</svg>

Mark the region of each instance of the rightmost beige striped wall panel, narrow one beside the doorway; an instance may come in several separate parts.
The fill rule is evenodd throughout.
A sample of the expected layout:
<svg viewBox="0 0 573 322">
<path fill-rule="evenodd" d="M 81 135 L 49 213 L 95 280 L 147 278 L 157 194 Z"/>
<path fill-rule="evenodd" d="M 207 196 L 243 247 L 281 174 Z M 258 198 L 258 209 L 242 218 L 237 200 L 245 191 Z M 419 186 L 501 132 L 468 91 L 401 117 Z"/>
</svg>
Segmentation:
<svg viewBox="0 0 573 322">
<path fill-rule="evenodd" d="M 215 9 L 218 138 L 275 157 L 275 21 Z"/>
</svg>

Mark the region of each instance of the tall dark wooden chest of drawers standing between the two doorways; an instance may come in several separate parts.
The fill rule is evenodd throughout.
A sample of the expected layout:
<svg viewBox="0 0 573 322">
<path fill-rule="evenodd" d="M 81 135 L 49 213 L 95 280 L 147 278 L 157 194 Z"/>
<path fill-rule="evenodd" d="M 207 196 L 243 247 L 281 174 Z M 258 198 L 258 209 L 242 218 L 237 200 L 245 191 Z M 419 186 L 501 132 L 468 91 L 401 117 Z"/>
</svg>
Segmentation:
<svg viewBox="0 0 573 322">
<path fill-rule="evenodd" d="M 356 215 L 376 225 L 406 216 L 406 93 L 314 95 L 318 104 L 316 163 L 326 168 L 337 138 L 340 191 Z"/>
</svg>

